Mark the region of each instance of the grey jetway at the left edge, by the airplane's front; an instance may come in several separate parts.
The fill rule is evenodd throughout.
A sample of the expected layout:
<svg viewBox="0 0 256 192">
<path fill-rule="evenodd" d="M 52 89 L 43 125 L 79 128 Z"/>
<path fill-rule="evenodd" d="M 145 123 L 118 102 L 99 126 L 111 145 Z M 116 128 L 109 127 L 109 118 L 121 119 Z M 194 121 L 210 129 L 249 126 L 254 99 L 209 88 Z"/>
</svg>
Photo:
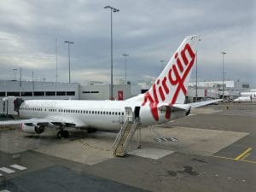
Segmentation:
<svg viewBox="0 0 256 192">
<path fill-rule="evenodd" d="M 23 99 L 16 96 L 8 96 L 0 99 L 0 114 L 3 115 L 19 115 L 19 108 Z"/>
</svg>

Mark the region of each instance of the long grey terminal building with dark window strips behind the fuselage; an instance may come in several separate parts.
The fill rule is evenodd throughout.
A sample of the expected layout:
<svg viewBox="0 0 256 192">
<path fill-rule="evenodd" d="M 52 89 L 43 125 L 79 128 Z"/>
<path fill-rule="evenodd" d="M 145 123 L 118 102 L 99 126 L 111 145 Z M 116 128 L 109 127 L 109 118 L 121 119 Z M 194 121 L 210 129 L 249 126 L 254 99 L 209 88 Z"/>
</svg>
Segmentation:
<svg viewBox="0 0 256 192">
<path fill-rule="evenodd" d="M 55 83 L 32 81 L 4 81 L 0 80 L 0 98 L 5 96 L 19 96 L 23 99 L 80 99 L 80 100 L 108 100 L 110 85 L 102 82 Z M 131 97 L 130 84 L 113 84 L 113 97 L 125 100 Z"/>
</svg>

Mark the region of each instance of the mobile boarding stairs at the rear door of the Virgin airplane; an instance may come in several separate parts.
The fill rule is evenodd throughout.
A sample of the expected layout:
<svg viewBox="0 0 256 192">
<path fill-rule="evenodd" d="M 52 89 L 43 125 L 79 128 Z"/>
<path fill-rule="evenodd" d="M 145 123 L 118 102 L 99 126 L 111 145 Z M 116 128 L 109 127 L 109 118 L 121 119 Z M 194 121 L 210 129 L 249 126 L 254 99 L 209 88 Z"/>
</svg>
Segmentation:
<svg viewBox="0 0 256 192">
<path fill-rule="evenodd" d="M 118 136 L 113 143 L 113 155 L 123 157 L 131 143 L 134 133 L 140 123 L 139 117 L 126 115 L 125 123 L 121 126 Z"/>
</svg>

